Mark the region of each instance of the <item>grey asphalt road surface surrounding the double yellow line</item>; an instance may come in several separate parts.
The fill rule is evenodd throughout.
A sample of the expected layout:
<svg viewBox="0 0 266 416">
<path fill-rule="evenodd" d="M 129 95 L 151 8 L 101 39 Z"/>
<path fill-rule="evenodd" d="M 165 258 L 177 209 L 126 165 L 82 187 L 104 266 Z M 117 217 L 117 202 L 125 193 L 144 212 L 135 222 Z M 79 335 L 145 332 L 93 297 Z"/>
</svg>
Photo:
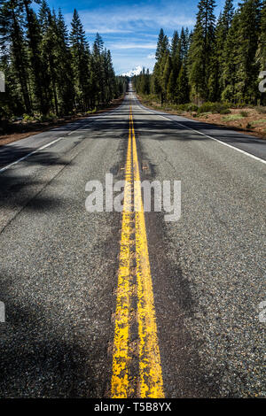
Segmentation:
<svg viewBox="0 0 266 416">
<path fill-rule="evenodd" d="M 266 142 L 131 93 L 0 147 L 0 397 L 110 397 L 121 213 L 85 185 L 123 179 L 130 105 L 142 179 L 182 183 L 180 220 L 145 213 L 165 397 L 266 397 Z"/>
</svg>

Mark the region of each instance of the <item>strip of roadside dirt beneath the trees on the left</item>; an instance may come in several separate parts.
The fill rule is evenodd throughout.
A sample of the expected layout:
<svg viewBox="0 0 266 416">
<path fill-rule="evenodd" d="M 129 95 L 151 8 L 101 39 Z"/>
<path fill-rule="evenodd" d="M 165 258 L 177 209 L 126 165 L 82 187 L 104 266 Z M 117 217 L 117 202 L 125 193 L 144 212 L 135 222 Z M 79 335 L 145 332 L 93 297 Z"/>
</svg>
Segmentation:
<svg viewBox="0 0 266 416">
<path fill-rule="evenodd" d="M 44 131 L 50 130 L 54 127 L 59 127 L 64 124 L 70 123 L 77 119 L 87 119 L 88 117 L 97 115 L 101 112 L 109 112 L 114 108 L 118 107 L 121 102 L 123 101 L 124 96 L 117 98 L 112 101 L 110 106 L 107 108 L 103 108 L 98 110 L 97 112 L 93 112 L 91 114 L 77 114 L 75 116 L 66 116 L 56 120 L 51 121 L 16 121 L 7 127 L 7 131 L 5 133 L 0 132 L 0 146 L 7 143 L 17 142 L 20 139 L 25 139 L 30 135 L 37 135 L 38 133 L 42 133 Z"/>
</svg>

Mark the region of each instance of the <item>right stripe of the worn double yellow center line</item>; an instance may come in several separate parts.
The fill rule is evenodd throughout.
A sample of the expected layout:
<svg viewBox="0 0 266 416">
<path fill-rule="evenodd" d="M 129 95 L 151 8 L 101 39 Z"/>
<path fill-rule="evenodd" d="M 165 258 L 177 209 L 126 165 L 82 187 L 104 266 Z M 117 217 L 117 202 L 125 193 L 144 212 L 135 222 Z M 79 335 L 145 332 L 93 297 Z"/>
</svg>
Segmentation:
<svg viewBox="0 0 266 416">
<path fill-rule="evenodd" d="M 145 214 L 141 196 L 137 145 L 130 114 L 134 171 L 134 201 L 137 255 L 137 319 L 139 335 L 140 397 L 164 397 L 160 366 L 160 350 L 157 336 L 156 316 L 153 300 L 153 281 L 145 228 Z"/>
</svg>

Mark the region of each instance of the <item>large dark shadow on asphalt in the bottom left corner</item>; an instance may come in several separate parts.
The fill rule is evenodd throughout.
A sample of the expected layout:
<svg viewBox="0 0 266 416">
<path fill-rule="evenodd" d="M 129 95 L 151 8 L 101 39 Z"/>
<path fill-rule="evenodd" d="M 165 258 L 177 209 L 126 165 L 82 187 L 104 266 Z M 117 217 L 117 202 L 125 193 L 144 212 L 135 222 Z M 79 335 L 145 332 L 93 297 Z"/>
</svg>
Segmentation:
<svg viewBox="0 0 266 416">
<path fill-rule="evenodd" d="M 6 322 L 0 323 L 0 397 L 98 397 L 103 386 L 90 362 L 98 362 L 99 351 L 90 351 L 90 339 L 88 346 L 80 342 L 81 322 L 67 320 L 69 311 L 62 311 L 60 304 L 49 305 L 37 281 L 31 296 L 27 282 L 27 297 L 26 292 L 16 296 L 14 285 L 21 279 L 2 268 L 0 299 Z M 51 300 L 61 295 L 58 291 Z"/>
</svg>

